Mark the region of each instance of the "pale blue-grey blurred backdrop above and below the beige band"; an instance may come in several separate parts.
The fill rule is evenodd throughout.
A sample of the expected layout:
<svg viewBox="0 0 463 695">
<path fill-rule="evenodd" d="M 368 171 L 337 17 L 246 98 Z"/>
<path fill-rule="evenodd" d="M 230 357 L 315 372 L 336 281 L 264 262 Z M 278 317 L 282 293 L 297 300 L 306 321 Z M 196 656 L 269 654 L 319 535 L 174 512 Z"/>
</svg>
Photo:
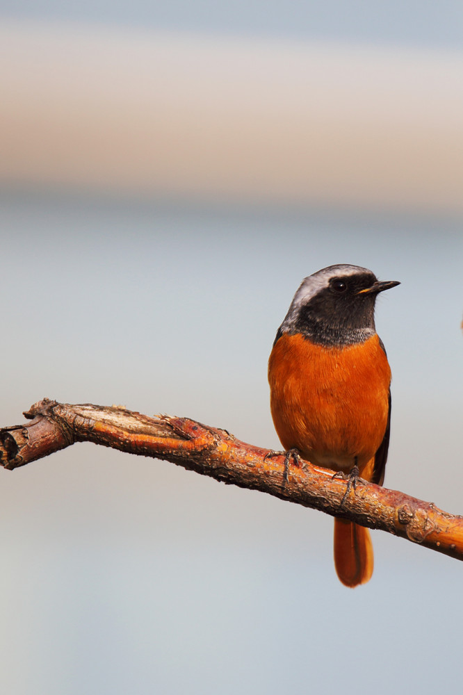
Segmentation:
<svg viewBox="0 0 463 695">
<path fill-rule="evenodd" d="M 460 4 L 350 7 L 43 0 L 0 15 L 461 50 Z M 277 328 L 303 277 L 353 263 L 401 282 L 376 311 L 393 374 L 385 484 L 463 512 L 455 209 L 2 183 L 3 425 L 48 397 L 278 448 Z M 88 443 L 0 473 L 2 692 L 428 694 L 460 680 L 454 559 L 373 532 L 373 579 L 352 591 L 319 512 Z"/>
</svg>

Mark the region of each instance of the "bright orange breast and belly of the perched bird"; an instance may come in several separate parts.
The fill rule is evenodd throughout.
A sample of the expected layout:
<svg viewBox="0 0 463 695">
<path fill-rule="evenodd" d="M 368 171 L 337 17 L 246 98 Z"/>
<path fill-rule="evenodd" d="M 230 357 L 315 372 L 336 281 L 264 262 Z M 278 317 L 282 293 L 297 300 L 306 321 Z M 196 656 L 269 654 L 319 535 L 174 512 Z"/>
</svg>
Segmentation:
<svg viewBox="0 0 463 695">
<path fill-rule="evenodd" d="M 387 427 L 391 370 L 377 335 L 322 347 L 283 334 L 268 361 L 270 408 L 284 448 L 314 464 L 366 473 Z M 369 473 L 369 471 L 368 471 Z"/>
</svg>

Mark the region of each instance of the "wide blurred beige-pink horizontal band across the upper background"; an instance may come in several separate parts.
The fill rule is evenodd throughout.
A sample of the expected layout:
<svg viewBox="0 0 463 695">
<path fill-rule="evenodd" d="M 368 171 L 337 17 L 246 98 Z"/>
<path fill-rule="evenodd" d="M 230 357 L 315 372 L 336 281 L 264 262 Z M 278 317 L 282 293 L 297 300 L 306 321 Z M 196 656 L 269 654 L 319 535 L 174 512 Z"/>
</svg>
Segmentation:
<svg viewBox="0 0 463 695">
<path fill-rule="evenodd" d="M 0 24 L 0 181 L 463 211 L 463 54 Z"/>
</svg>

